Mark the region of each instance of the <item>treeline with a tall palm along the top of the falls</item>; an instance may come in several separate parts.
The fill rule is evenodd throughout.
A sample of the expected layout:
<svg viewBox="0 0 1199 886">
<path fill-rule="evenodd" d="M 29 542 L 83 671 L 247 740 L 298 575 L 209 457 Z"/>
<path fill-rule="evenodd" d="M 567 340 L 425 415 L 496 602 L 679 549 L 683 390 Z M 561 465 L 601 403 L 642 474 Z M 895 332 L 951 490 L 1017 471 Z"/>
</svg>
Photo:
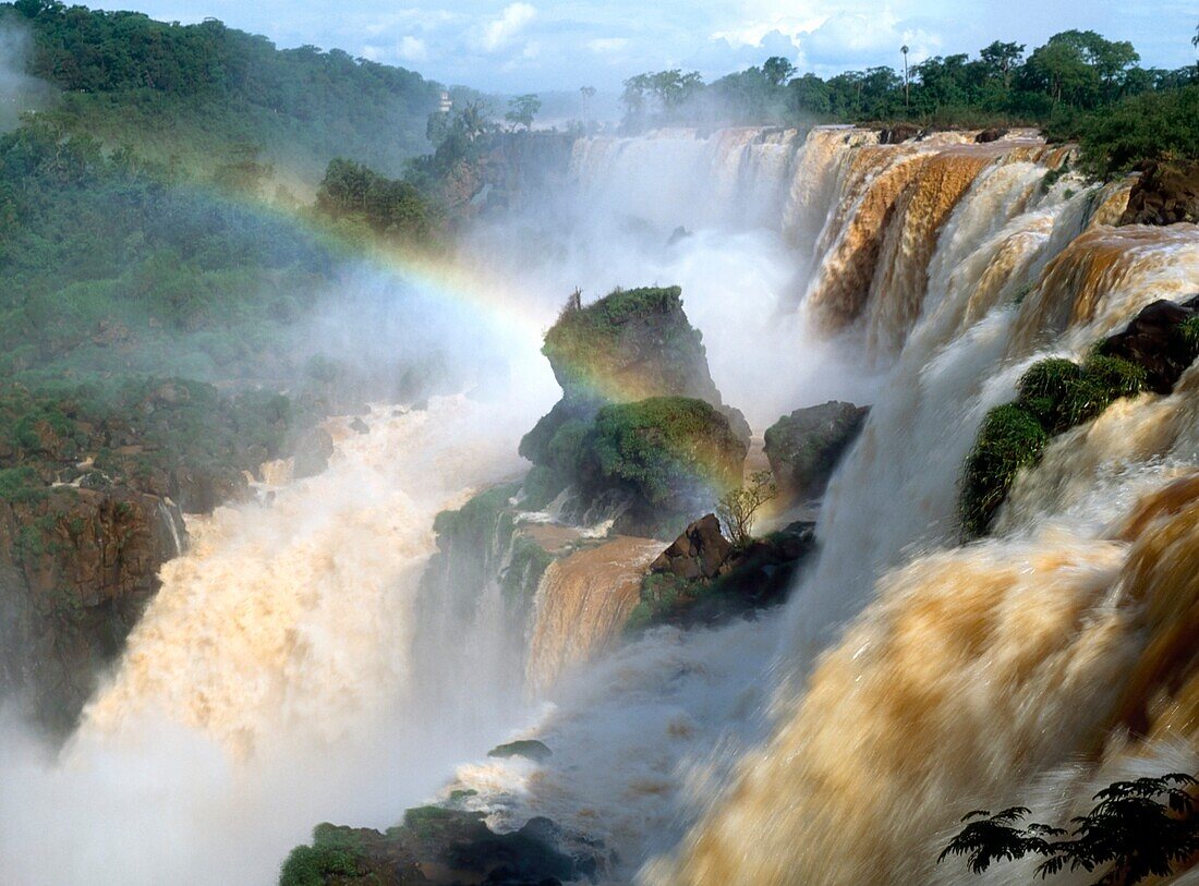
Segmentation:
<svg viewBox="0 0 1199 886">
<path fill-rule="evenodd" d="M 1068 30 L 1031 52 L 995 41 L 974 59 L 934 56 L 910 71 L 906 53 L 904 60 L 903 71 L 873 67 L 827 80 L 796 76 L 778 56 L 709 84 L 681 70 L 643 73 L 625 82 L 625 127 L 903 121 L 915 134 L 1042 126 L 1053 139 L 1079 139 L 1083 165 L 1097 175 L 1199 158 L 1199 67 L 1140 67 L 1126 41 Z"/>
</svg>

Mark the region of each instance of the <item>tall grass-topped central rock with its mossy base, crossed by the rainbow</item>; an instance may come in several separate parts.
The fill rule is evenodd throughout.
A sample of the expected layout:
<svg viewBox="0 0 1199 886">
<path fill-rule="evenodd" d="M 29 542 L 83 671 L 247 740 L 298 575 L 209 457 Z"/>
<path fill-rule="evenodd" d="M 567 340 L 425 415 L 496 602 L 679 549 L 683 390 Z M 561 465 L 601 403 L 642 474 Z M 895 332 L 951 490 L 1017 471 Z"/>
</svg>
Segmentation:
<svg viewBox="0 0 1199 886">
<path fill-rule="evenodd" d="M 677 287 L 586 307 L 576 294 L 543 352 L 562 399 L 520 441 L 535 465 L 529 507 L 571 486 L 568 518 L 605 511 L 622 534 L 670 537 L 710 506 L 713 486 L 740 481 L 749 426 L 722 402 Z"/>
</svg>

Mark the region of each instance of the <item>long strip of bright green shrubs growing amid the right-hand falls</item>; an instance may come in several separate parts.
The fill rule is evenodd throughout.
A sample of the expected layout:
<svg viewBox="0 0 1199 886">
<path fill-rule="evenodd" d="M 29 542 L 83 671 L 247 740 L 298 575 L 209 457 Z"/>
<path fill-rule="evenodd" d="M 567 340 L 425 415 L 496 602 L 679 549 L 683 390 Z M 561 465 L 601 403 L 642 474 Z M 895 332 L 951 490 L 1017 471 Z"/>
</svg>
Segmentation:
<svg viewBox="0 0 1199 886">
<path fill-rule="evenodd" d="M 1017 385 L 1018 399 L 987 414 L 962 481 L 966 537 L 986 534 L 1016 475 L 1034 464 L 1049 439 L 1090 421 L 1120 397 L 1145 388 L 1145 370 L 1127 360 L 1092 355 L 1086 363 L 1052 357 L 1034 363 Z"/>
</svg>

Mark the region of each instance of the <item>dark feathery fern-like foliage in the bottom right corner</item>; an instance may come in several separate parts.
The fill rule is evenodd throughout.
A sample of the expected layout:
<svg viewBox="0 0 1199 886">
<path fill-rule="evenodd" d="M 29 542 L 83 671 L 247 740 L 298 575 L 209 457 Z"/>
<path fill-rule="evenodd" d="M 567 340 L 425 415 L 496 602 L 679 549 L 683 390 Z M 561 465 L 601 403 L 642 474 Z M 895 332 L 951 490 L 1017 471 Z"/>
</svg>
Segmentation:
<svg viewBox="0 0 1199 886">
<path fill-rule="evenodd" d="M 1068 833 L 1042 824 L 1018 827 L 1030 814 L 1025 807 L 994 815 L 972 812 L 962 819 L 970 824 L 938 861 L 964 855 L 970 870 L 981 874 L 999 861 L 1041 856 L 1046 860 L 1036 869 L 1041 880 L 1068 867 L 1099 874 L 1093 886 L 1135 886 L 1169 876 L 1175 864 L 1199 851 L 1199 818 L 1191 796 L 1197 784 L 1180 772 L 1115 782 L 1095 795 L 1098 802 L 1086 815 L 1071 819 Z"/>
</svg>

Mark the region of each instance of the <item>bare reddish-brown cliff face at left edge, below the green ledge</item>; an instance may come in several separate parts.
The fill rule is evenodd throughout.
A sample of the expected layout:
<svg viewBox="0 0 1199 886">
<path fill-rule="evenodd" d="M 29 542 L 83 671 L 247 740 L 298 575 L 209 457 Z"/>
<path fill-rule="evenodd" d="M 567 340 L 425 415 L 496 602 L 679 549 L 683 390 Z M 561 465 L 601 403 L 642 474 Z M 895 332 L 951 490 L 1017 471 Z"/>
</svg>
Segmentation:
<svg viewBox="0 0 1199 886">
<path fill-rule="evenodd" d="M 38 722 L 73 725 L 185 537 L 177 507 L 131 489 L 0 501 L 0 670 Z"/>
</svg>

